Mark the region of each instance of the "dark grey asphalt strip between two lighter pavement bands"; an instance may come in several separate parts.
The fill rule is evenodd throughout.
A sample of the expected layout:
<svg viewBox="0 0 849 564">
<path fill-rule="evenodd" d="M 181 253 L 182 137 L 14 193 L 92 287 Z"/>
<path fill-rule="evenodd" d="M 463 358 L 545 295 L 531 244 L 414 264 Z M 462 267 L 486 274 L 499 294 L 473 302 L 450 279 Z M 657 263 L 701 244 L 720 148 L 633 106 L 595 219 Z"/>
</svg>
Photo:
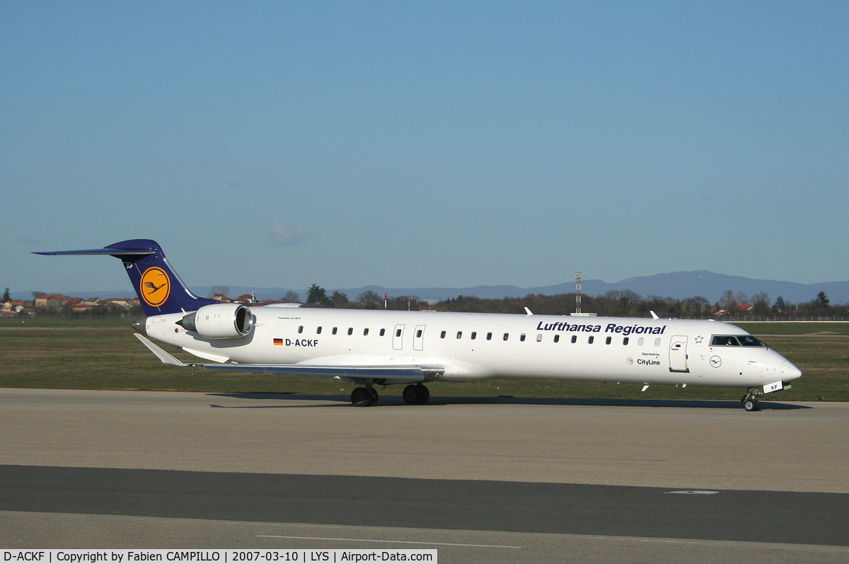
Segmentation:
<svg viewBox="0 0 849 564">
<path fill-rule="evenodd" d="M 0 510 L 849 545 L 849 494 L 0 466 Z"/>
</svg>

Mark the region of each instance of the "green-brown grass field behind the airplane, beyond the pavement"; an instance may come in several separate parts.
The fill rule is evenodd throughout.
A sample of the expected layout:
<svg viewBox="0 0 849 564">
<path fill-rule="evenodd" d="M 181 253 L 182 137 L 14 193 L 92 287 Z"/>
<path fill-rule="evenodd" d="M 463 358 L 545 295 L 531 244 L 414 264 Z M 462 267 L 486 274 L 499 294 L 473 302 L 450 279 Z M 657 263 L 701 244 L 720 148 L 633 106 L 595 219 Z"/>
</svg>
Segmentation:
<svg viewBox="0 0 849 564">
<path fill-rule="evenodd" d="M 130 319 L 86 321 L 0 320 L 0 386 L 103 390 L 184 390 L 338 395 L 354 386 L 340 381 L 280 375 L 225 374 L 161 364 L 132 336 Z M 789 358 L 803 372 L 793 388 L 767 398 L 849 401 L 849 324 L 739 324 Z M 163 346 L 177 358 L 198 359 Z M 515 398 L 739 399 L 742 389 L 498 379 L 428 385 L 431 395 Z M 381 394 L 399 395 L 402 386 Z"/>
</svg>

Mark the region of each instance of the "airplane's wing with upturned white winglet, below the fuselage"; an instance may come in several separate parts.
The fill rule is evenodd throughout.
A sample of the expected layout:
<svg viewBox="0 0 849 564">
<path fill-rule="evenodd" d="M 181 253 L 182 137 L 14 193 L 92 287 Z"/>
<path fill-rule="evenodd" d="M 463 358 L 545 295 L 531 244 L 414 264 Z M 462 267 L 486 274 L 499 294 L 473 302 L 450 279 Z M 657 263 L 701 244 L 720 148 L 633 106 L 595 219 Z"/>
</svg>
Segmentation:
<svg viewBox="0 0 849 564">
<path fill-rule="evenodd" d="M 261 374 L 274 372 L 315 376 L 319 379 L 340 378 L 344 381 L 374 381 L 378 384 L 403 384 L 438 378 L 445 372 L 441 364 L 396 364 L 377 366 L 340 366 L 316 364 L 186 364 L 157 347 L 149 339 L 135 334 L 145 347 L 148 347 L 164 364 L 174 366 L 198 366 L 208 370 L 230 370 Z"/>
</svg>

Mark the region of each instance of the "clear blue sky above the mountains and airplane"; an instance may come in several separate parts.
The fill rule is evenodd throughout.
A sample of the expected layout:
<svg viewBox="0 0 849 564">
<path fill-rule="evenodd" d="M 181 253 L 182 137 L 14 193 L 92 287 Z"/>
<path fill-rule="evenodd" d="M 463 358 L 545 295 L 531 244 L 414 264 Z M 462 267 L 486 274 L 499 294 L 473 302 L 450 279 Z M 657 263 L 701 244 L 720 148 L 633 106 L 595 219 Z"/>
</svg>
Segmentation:
<svg viewBox="0 0 849 564">
<path fill-rule="evenodd" d="M 0 2 L 0 287 L 849 279 L 847 3 Z"/>
</svg>

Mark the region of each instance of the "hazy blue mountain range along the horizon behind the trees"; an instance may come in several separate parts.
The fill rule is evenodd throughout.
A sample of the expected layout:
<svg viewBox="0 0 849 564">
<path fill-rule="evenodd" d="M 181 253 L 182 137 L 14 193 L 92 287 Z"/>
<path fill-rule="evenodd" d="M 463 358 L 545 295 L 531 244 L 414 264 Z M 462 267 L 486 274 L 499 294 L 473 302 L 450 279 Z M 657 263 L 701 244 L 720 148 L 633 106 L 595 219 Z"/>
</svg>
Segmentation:
<svg viewBox="0 0 849 564">
<path fill-rule="evenodd" d="M 673 272 L 667 274 L 654 274 L 652 276 L 638 276 L 609 284 L 604 280 L 585 279 L 583 281 L 583 292 L 589 296 L 599 296 L 610 290 L 633 290 L 642 296 L 662 296 L 685 298 L 692 296 L 704 296 L 710 302 L 716 302 L 722 292 L 733 290 L 734 293 L 745 292 L 752 296 L 758 292 L 766 292 L 774 302 L 779 296 L 789 302 L 809 302 L 820 291 L 828 294 L 831 302 L 849 302 L 849 281 L 846 282 L 824 282 L 821 284 L 798 284 L 796 282 L 782 282 L 779 280 L 761 280 L 745 278 L 743 276 L 728 276 L 728 274 L 716 274 L 707 270 L 695 270 L 691 272 Z M 211 286 L 194 286 L 192 291 L 198 296 L 206 296 Z M 419 296 L 420 299 L 437 301 L 448 297 L 478 296 L 481 298 L 502 298 L 505 296 L 522 297 L 527 294 L 565 294 L 575 291 L 573 281 L 553 286 L 538 286 L 533 288 L 520 288 L 513 285 L 502 286 L 473 286 L 469 288 L 386 288 L 384 286 L 363 286 L 361 288 L 328 288 L 328 295 L 335 290 L 344 292 L 348 299 L 356 300 L 357 296 L 366 290 L 372 290 L 383 296 L 388 292 L 390 296 Z M 278 300 L 286 292 L 295 291 L 301 300 L 306 300 L 306 290 L 293 290 L 290 288 L 258 288 L 252 286 L 230 286 L 230 296 L 241 296 L 242 294 L 256 294 L 260 300 Z M 66 296 L 92 297 L 126 297 L 130 296 L 130 290 L 87 290 L 84 292 L 71 292 Z M 29 300 L 32 296 L 29 292 L 12 292 L 12 299 Z"/>
</svg>

